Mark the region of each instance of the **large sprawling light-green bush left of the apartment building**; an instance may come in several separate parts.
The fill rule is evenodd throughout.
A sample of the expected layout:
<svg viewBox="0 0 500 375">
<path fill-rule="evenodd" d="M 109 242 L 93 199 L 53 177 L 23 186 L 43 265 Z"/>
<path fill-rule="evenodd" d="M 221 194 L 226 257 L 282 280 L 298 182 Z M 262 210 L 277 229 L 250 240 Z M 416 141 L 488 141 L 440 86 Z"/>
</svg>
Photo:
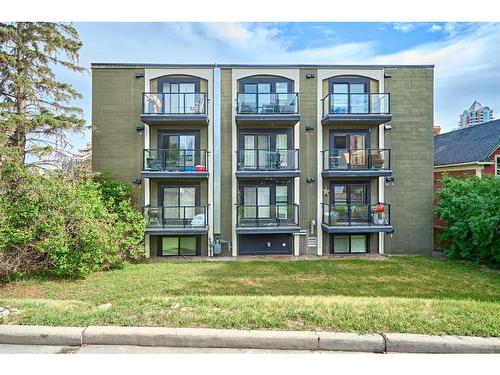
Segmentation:
<svg viewBox="0 0 500 375">
<path fill-rule="evenodd" d="M 83 277 L 139 259 L 144 220 L 108 174 L 65 178 L 7 165 L 0 181 L 0 279 Z"/>
</svg>

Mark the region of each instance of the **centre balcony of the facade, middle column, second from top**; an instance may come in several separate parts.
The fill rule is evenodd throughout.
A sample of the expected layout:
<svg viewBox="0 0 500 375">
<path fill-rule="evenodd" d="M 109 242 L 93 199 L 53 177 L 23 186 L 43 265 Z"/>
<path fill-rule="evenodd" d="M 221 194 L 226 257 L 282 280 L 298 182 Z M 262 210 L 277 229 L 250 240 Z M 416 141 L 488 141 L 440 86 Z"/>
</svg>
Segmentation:
<svg viewBox="0 0 500 375">
<path fill-rule="evenodd" d="M 299 150 L 240 149 L 236 177 L 298 177 Z"/>
</svg>

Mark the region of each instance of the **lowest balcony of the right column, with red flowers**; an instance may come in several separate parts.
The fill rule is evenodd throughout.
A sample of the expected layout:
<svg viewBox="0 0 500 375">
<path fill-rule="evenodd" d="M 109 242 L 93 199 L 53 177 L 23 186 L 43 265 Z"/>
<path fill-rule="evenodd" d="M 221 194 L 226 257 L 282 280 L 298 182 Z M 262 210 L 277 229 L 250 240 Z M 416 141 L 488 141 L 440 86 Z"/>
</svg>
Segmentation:
<svg viewBox="0 0 500 375">
<path fill-rule="evenodd" d="M 391 206 L 379 204 L 322 203 L 322 227 L 328 233 L 376 233 L 394 231 Z"/>
</svg>

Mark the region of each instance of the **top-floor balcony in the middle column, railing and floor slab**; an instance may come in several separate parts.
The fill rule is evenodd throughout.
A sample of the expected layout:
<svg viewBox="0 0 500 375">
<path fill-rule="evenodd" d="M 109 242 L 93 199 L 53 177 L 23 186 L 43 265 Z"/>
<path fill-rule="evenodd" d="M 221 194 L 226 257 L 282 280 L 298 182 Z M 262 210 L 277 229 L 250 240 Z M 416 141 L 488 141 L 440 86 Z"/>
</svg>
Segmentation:
<svg viewBox="0 0 500 375">
<path fill-rule="evenodd" d="M 295 125 L 300 120 L 299 94 L 238 93 L 236 123 Z"/>
</svg>

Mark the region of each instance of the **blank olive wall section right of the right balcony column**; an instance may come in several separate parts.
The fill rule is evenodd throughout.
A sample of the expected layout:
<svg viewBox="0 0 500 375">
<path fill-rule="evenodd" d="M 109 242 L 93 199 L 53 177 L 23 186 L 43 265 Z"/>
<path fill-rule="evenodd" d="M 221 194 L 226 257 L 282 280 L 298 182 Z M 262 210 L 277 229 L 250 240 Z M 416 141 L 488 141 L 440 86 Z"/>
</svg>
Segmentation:
<svg viewBox="0 0 500 375">
<path fill-rule="evenodd" d="M 392 130 L 385 132 L 391 149 L 394 184 L 386 186 L 394 234 L 386 236 L 387 254 L 432 252 L 434 159 L 434 71 L 431 68 L 386 69 L 391 94 Z"/>
</svg>

